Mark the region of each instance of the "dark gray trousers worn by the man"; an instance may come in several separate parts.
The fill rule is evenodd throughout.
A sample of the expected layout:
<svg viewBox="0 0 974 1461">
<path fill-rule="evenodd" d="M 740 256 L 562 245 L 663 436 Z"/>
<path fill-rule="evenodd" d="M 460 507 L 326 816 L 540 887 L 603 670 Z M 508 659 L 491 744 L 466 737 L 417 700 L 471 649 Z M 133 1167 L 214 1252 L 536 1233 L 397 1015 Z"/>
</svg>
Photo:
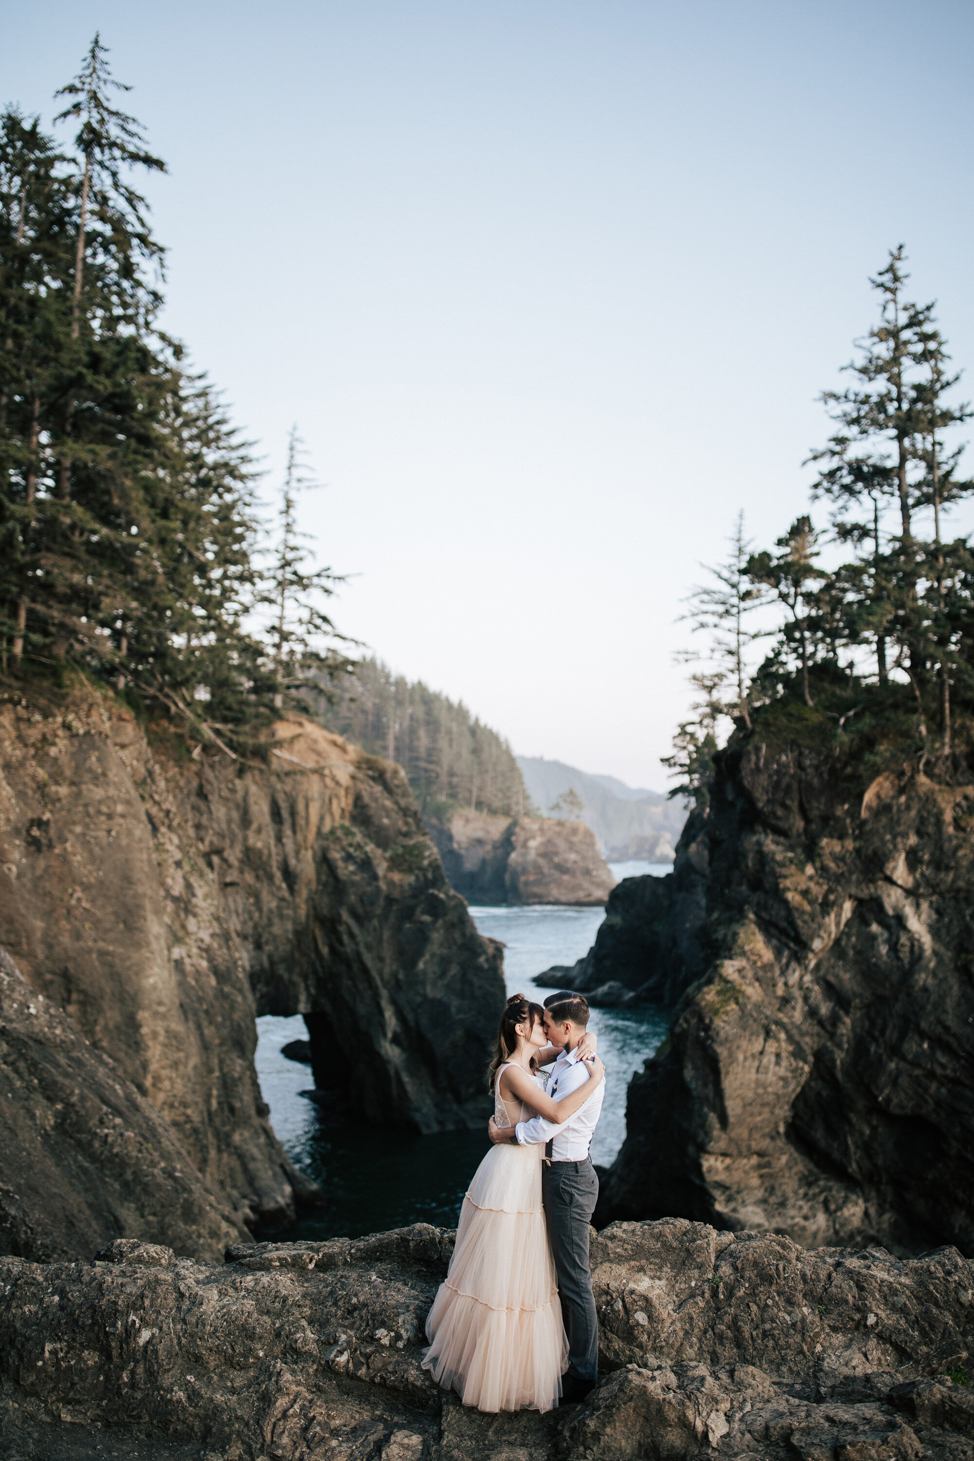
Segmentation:
<svg viewBox="0 0 974 1461">
<path fill-rule="evenodd" d="M 599 1378 L 599 1321 L 588 1270 L 588 1223 L 599 1198 L 591 1161 L 542 1164 L 542 1201 L 568 1334 L 565 1378 L 594 1385 Z"/>
</svg>

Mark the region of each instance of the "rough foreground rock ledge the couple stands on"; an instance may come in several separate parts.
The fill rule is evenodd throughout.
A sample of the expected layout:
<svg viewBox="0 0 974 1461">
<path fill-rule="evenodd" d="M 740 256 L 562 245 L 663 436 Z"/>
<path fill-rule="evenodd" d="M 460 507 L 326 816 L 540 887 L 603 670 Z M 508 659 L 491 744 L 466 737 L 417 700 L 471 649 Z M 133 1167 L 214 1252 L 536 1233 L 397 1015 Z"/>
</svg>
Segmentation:
<svg viewBox="0 0 974 1461">
<path fill-rule="evenodd" d="M 0 1452 L 61 1454 L 85 1427 L 110 1451 L 124 1432 L 105 1427 L 130 1427 L 140 1455 L 168 1438 L 207 1461 L 974 1457 L 974 1262 L 956 1249 L 616 1223 L 593 1242 L 599 1386 L 491 1417 L 421 1367 L 451 1248 L 418 1223 L 232 1246 L 222 1267 L 134 1239 L 93 1264 L 3 1258 Z"/>
</svg>

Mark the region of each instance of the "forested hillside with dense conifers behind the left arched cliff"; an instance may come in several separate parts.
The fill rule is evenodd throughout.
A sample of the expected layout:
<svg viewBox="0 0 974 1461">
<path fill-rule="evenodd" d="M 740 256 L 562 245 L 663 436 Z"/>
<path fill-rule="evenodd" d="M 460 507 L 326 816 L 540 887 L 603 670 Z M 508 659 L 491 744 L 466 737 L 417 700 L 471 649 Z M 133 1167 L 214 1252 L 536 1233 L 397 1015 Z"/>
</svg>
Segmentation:
<svg viewBox="0 0 974 1461">
<path fill-rule="evenodd" d="M 399 761 L 423 817 L 440 818 L 454 806 L 530 814 L 510 745 L 461 701 L 393 674 L 378 659 L 339 676 L 331 695 L 330 704 L 315 697 L 321 722 L 371 755 Z"/>
</svg>

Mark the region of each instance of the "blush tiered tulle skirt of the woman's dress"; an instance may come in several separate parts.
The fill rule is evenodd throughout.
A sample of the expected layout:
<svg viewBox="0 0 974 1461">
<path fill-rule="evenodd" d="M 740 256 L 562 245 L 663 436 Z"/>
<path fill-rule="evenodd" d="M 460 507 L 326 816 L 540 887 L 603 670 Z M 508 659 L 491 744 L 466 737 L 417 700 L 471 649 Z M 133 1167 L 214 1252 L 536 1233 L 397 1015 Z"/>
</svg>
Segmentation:
<svg viewBox="0 0 974 1461">
<path fill-rule="evenodd" d="M 568 1340 L 542 1208 L 542 1147 L 494 1145 L 463 1199 L 423 1369 L 478 1410 L 551 1410 Z"/>
</svg>

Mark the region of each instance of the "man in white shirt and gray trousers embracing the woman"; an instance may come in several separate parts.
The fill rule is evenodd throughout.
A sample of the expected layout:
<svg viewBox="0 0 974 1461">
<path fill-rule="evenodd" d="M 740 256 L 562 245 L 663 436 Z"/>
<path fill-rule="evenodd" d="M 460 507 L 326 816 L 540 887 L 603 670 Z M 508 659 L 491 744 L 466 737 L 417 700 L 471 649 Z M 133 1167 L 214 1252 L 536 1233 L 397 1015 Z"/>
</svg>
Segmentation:
<svg viewBox="0 0 974 1461">
<path fill-rule="evenodd" d="M 588 1078 L 584 1062 L 575 1055 L 587 1026 L 588 1002 L 581 995 L 559 993 L 545 1001 L 545 1034 L 559 1050 L 548 1080 L 552 1100 L 564 1100 Z M 545 1143 L 542 1201 L 568 1334 L 564 1405 L 583 1400 L 599 1378 L 599 1322 L 588 1270 L 588 1223 L 596 1210 L 599 1178 L 588 1160 L 588 1147 L 605 1091 L 606 1083 L 602 1081 L 584 1106 L 561 1126 L 534 1116 L 513 1129 L 498 1126 L 491 1118 L 488 1128 L 491 1141 L 517 1141 L 529 1147 Z"/>
</svg>

